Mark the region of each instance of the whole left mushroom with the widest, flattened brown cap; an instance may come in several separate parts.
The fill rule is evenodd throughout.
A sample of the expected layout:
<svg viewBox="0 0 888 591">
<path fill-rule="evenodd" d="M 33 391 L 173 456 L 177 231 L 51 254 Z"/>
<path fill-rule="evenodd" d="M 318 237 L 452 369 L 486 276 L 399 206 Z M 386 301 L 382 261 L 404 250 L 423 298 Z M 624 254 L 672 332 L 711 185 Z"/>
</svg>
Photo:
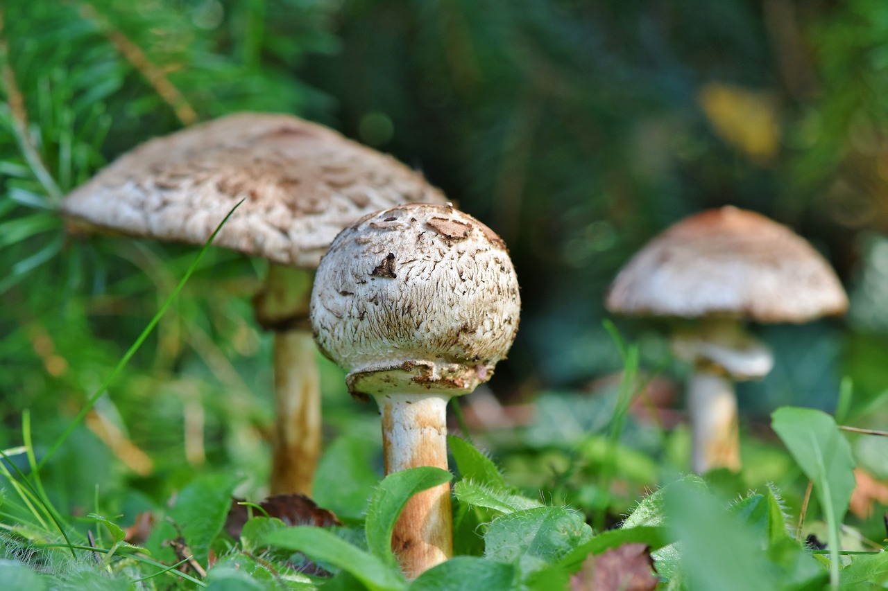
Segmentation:
<svg viewBox="0 0 888 591">
<path fill-rule="evenodd" d="M 214 245 L 270 262 L 254 299 L 275 331 L 271 493 L 311 494 L 321 397 L 308 330 L 312 271 L 345 225 L 409 201 L 445 202 L 424 177 L 333 130 L 285 114 L 242 113 L 155 138 L 67 196 L 88 228 Z"/>
</svg>

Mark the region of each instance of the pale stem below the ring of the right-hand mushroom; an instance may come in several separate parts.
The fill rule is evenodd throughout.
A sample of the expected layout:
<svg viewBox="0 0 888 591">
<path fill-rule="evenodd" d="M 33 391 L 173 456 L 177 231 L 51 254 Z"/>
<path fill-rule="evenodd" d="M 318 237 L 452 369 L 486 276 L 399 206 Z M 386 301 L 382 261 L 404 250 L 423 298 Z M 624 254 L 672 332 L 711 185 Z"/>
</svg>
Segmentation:
<svg viewBox="0 0 888 591">
<path fill-rule="evenodd" d="M 713 468 L 739 470 L 740 436 L 733 382 L 698 365 L 691 376 L 687 398 L 694 472 L 702 474 Z"/>
</svg>

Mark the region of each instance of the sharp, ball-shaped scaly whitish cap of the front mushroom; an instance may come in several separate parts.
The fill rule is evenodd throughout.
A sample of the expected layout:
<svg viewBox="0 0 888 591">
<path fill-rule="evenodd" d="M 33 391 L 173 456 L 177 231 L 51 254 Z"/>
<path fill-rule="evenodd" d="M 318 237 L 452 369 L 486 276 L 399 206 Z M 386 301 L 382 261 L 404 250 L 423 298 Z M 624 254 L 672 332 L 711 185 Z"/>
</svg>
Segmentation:
<svg viewBox="0 0 888 591">
<path fill-rule="evenodd" d="M 364 217 L 321 259 L 315 341 L 350 372 L 356 396 L 471 392 L 518 331 L 518 278 L 503 240 L 449 206 L 414 203 Z"/>
</svg>

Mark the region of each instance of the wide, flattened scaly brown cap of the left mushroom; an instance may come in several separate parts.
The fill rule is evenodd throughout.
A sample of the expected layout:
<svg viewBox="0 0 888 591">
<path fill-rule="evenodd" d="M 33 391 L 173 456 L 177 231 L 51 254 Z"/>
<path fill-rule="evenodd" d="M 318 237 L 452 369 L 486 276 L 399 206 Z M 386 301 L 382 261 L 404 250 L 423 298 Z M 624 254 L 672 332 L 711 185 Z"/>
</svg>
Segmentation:
<svg viewBox="0 0 888 591">
<path fill-rule="evenodd" d="M 313 269 L 359 217 L 400 203 L 445 203 L 422 174 L 321 125 L 241 113 L 155 138 L 67 196 L 88 225 L 213 244 Z"/>
</svg>

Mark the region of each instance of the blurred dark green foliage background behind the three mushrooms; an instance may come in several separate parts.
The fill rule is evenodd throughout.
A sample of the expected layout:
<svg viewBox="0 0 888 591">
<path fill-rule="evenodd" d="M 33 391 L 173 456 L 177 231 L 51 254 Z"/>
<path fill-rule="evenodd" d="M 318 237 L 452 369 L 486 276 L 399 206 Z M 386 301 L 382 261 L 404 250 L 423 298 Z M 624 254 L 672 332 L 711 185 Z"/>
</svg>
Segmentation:
<svg viewBox="0 0 888 591">
<path fill-rule="evenodd" d="M 21 444 L 25 410 L 38 455 L 52 445 L 196 252 L 68 235 L 61 197 L 147 138 L 241 110 L 298 114 L 394 154 L 506 240 L 523 311 L 489 389 L 539 407 L 520 437 L 489 437 L 495 449 L 545 450 L 571 429 L 604 429 L 609 376 L 622 369 L 602 324 L 607 285 L 657 232 L 725 204 L 805 236 L 852 296 L 846 319 L 752 327 L 777 361 L 765 381 L 740 387 L 744 429 L 757 436 L 745 445 L 761 459 L 746 484 L 798 477 L 785 454 L 756 455 L 757 441 L 774 440 L 768 414 L 788 404 L 832 411 L 843 376 L 853 384 L 845 420 L 884 428 L 881 0 L 5 0 L 0 10 L 4 447 Z M 63 505 L 91 506 L 99 483 L 121 492 L 115 508 L 130 514 L 208 466 L 240 471 L 245 492 L 262 491 L 271 343 L 250 296 L 263 271 L 210 251 L 49 465 L 45 480 Z M 670 358 L 667 326 L 613 320 L 641 344 L 642 369 L 659 376 L 680 421 L 686 368 Z M 328 443 L 351 458 L 355 440 L 378 445 L 376 409 L 348 398 L 329 362 L 323 377 Z M 627 445 L 686 469 L 686 434 L 639 425 L 627 428 Z M 345 432 L 348 441 L 337 438 Z M 855 445 L 888 479 L 885 445 Z M 583 450 L 593 461 L 594 445 Z M 551 486 L 569 480 L 572 458 L 503 462 L 528 486 Z M 639 484 L 655 485 L 660 477 L 644 471 L 662 466 L 644 461 Z M 337 494 L 326 470 L 321 501 Z M 595 491 L 564 490 L 585 507 L 598 502 Z"/>
</svg>

